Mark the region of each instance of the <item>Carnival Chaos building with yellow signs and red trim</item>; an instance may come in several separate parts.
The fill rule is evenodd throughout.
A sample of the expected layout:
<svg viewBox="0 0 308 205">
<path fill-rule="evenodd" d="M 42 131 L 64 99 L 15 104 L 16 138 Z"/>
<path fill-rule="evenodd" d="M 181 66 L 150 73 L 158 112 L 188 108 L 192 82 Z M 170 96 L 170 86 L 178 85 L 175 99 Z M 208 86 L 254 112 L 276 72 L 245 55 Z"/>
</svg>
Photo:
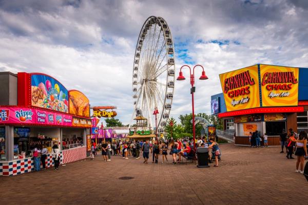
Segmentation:
<svg viewBox="0 0 308 205">
<path fill-rule="evenodd" d="M 233 132 L 236 145 L 250 145 L 249 132 L 280 145 L 282 131 L 308 131 L 308 69 L 257 64 L 219 75 L 223 93 L 211 97 L 211 112 Z"/>
</svg>

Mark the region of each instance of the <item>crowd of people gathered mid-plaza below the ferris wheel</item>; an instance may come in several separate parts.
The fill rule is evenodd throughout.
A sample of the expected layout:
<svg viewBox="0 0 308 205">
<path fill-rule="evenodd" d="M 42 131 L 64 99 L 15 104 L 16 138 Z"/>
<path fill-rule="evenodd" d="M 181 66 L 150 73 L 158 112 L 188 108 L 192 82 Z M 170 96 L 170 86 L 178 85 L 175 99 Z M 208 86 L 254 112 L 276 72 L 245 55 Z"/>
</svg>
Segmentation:
<svg viewBox="0 0 308 205">
<path fill-rule="evenodd" d="M 205 137 L 199 137 L 195 140 L 196 147 L 207 147 L 209 149 L 208 161 L 211 163 L 211 159 L 215 160 L 215 166 L 219 166 L 220 150 L 218 143 L 215 139 L 206 140 Z M 103 142 L 102 144 L 102 155 L 104 161 L 111 161 L 111 155 L 122 156 L 123 159 L 129 159 L 133 157 L 140 159 L 142 155 L 143 163 L 148 163 L 148 159 L 152 154 L 152 163 L 166 163 L 168 161 L 168 154 L 172 156 L 172 164 L 182 162 L 183 157 L 196 158 L 196 151 L 194 150 L 194 141 L 192 138 L 183 139 L 169 139 L 169 140 L 131 140 L 131 141 L 118 141 L 118 142 Z M 97 155 L 97 145 L 92 142 L 91 146 L 91 157 L 93 160 L 94 156 Z M 107 158 L 108 156 L 108 158 Z"/>
</svg>

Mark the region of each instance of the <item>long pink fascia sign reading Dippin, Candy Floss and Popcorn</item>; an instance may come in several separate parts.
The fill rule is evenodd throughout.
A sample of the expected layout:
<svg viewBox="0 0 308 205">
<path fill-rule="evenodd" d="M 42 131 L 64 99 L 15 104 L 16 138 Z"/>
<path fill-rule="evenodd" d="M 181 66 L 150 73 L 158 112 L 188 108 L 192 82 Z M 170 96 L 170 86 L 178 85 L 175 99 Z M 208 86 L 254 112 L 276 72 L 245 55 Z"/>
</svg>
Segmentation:
<svg viewBox="0 0 308 205">
<path fill-rule="evenodd" d="M 0 123 L 72 126 L 71 115 L 27 107 L 0 107 Z"/>
</svg>

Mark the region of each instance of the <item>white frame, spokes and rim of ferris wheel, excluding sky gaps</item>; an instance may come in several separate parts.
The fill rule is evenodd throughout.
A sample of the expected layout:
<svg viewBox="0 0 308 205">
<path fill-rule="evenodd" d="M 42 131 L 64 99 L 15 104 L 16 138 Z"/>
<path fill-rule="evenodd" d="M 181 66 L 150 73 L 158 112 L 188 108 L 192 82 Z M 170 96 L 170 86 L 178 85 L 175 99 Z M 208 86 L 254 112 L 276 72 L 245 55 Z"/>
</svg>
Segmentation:
<svg viewBox="0 0 308 205">
<path fill-rule="evenodd" d="M 151 26 L 153 26 L 153 25 L 155 26 L 155 31 L 156 31 L 156 28 L 160 27 L 160 31 L 159 31 L 160 33 L 159 33 L 159 36 L 158 36 L 157 44 L 160 41 L 161 33 L 163 34 L 163 39 L 164 39 L 164 45 L 161 47 L 157 61 L 160 59 L 160 54 L 163 51 L 163 49 L 165 49 L 165 52 L 166 52 L 165 56 L 163 57 L 162 61 L 160 62 L 159 67 L 157 68 L 157 65 L 155 66 L 155 71 L 161 72 L 161 73 L 156 72 L 156 74 L 158 74 L 158 75 L 156 75 L 156 77 L 159 77 L 161 74 L 166 73 L 166 84 L 157 82 L 157 78 L 155 78 L 155 79 L 142 79 L 142 83 L 137 82 L 137 85 L 136 85 L 136 81 L 138 81 L 138 79 L 139 79 L 138 74 L 142 74 L 144 76 L 144 73 L 142 73 L 143 71 L 145 71 L 147 73 L 150 72 L 150 71 L 148 71 L 148 69 L 142 70 L 144 67 L 140 66 L 141 62 L 139 60 L 143 60 L 142 59 L 143 56 L 141 56 L 141 53 L 143 51 L 142 50 L 143 43 L 145 42 L 143 40 L 146 39 L 146 36 L 148 36 L 147 32 L 151 31 Z M 152 44 L 153 44 L 153 42 L 155 42 L 154 41 L 155 34 L 156 33 L 153 33 L 153 37 L 152 37 L 153 39 L 152 39 L 152 42 L 151 42 Z M 171 43 L 170 43 L 170 39 L 171 39 Z M 148 43 L 149 43 L 149 41 L 148 41 Z M 157 52 L 157 46 L 158 45 L 156 45 L 156 48 L 152 53 L 153 55 L 155 54 L 155 56 L 156 56 L 155 52 Z M 169 48 L 171 48 L 172 52 Z M 146 48 L 144 48 L 144 49 L 146 49 Z M 152 45 L 151 45 L 151 49 L 152 49 Z M 144 54 L 144 52 L 142 54 Z M 138 56 L 138 53 L 139 53 L 139 56 Z M 151 55 L 151 51 L 150 51 L 150 55 Z M 152 56 L 152 58 L 153 58 L 153 56 Z M 164 66 L 166 66 L 166 68 L 164 68 L 164 66 L 160 67 L 164 59 L 166 59 L 166 64 L 164 65 Z M 138 63 L 137 63 L 137 61 L 138 61 Z M 170 61 L 171 61 L 171 63 L 170 63 Z M 172 63 L 172 61 L 173 61 L 173 63 Z M 148 63 L 148 62 L 146 62 L 146 63 Z M 152 59 L 151 59 L 150 63 L 152 63 Z M 137 70 L 136 70 L 136 67 L 138 68 Z M 154 68 L 154 67 L 151 67 L 150 65 L 147 66 L 147 68 L 148 67 Z M 160 68 L 161 69 L 163 68 L 163 70 L 160 70 Z M 172 74 L 172 70 L 173 70 L 173 74 Z M 151 71 L 153 71 L 153 70 L 151 70 Z M 167 22 L 164 20 L 164 18 L 156 17 L 156 16 L 150 16 L 144 22 L 144 24 L 143 24 L 143 26 L 140 30 L 137 45 L 136 45 L 136 50 L 135 50 L 135 54 L 134 54 L 133 69 L 132 69 L 132 89 L 133 89 L 133 99 L 136 99 L 136 101 L 134 101 L 133 113 L 132 113 L 131 121 L 130 121 L 130 124 L 129 124 L 129 128 L 132 125 L 133 118 L 136 114 L 136 109 L 140 108 L 142 111 L 147 112 L 148 127 L 150 127 L 150 129 L 153 129 L 153 127 L 155 127 L 155 122 L 154 122 L 154 124 L 152 123 L 152 118 L 155 119 L 155 117 L 153 117 L 152 111 L 155 109 L 155 107 L 159 107 L 159 110 L 158 110 L 159 116 L 157 118 L 158 119 L 157 128 L 158 128 L 158 131 L 162 131 L 164 129 L 165 126 L 162 126 L 162 125 L 164 125 L 164 123 L 166 123 L 166 120 L 169 118 L 171 107 L 172 107 L 172 101 L 173 101 L 173 97 L 174 97 L 173 95 L 174 95 L 174 86 L 175 86 L 175 73 L 176 73 L 175 71 L 176 71 L 175 47 L 174 47 L 174 41 L 172 40 L 170 28 L 169 28 Z M 137 74 L 137 78 L 136 78 L 136 74 Z M 173 85 L 170 82 L 173 82 Z M 148 85 L 149 85 L 149 83 L 155 84 L 155 85 L 146 86 L 146 83 L 148 83 Z M 138 85 L 141 85 L 141 86 L 138 86 Z M 160 88 L 162 88 L 164 86 L 165 89 L 159 89 L 158 85 L 160 85 Z M 149 89 L 149 90 L 147 90 L 147 89 Z M 164 97 L 162 98 L 163 91 L 164 91 Z M 161 94 L 161 95 L 157 95 L 158 99 L 156 99 L 155 97 L 152 98 L 151 97 L 152 95 L 150 95 L 150 94 Z M 154 99 L 155 102 L 153 102 L 153 99 Z M 146 102 L 144 103 L 144 101 L 146 101 Z M 161 106 L 158 106 L 158 103 L 161 103 Z M 168 105 L 167 106 L 168 108 L 166 107 L 166 105 Z M 145 107 L 138 107 L 138 106 L 146 106 L 146 108 Z M 165 119 L 165 121 L 163 121 L 163 119 Z"/>
</svg>

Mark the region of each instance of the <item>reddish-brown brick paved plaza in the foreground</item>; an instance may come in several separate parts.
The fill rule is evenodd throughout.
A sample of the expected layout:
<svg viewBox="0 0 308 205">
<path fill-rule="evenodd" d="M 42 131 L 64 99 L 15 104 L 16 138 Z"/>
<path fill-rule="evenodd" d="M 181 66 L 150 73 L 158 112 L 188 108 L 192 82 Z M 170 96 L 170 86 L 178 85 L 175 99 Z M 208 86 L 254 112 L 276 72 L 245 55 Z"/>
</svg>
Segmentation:
<svg viewBox="0 0 308 205">
<path fill-rule="evenodd" d="M 104 162 L 99 155 L 59 171 L 0 177 L 1 204 L 308 203 L 308 182 L 295 173 L 295 159 L 287 160 L 279 147 L 220 147 L 219 167 L 143 164 L 118 156 Z M 125 176 L 134 178 L 119 179 Z"/>
</svg>

